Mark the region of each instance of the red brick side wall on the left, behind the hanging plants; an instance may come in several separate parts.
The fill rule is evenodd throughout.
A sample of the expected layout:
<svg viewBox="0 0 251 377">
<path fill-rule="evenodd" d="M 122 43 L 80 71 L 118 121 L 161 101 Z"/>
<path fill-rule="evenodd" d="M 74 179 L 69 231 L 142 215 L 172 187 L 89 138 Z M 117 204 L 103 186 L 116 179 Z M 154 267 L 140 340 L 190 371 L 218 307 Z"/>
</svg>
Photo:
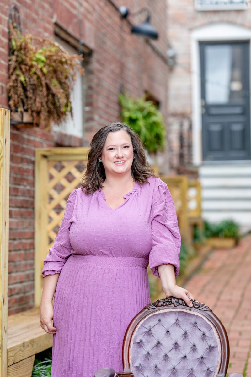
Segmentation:
<svg viewBox="0 0 251 377">
<path fill-rule="evenodd" d="M 147 6 L 152 24 L 160 39 L 151 44 L 131 35 L 131 24 L 123 20 L 117 6 L 123 1 L 20 0 L 14 2 L 21 14 L 25 32 L 40 37 L 54 37 L 54 22 L 92 50 L 86 62 L 87 95 L 84 112 L 84 138 L 53 136 L 39 128 L 17 130 L 11 126 L 10 227 L 9 227 L 9 314 L 34 305 L 34 155 L 37 147 L 55 145 L 89 146 L 94 133 L 119 119 L 118 94 L 123 87 L 138 97 L 145 91 L 160 101 L 166 117 L 166 83 L 168 68 L 164 62 L 167 50 L 166 1 L 127 1 L 132 12 Z M 53 6 L 52 6 L 53 4 Z M 8 72 L 8 29 L 10 3 L 0 2 L 0 107 L 8 107 L 6 83 Z M 79 17 L 80 16 L 80 17 Z M 79 21 L 81 18 L 81 34 Z M 134 24 L 145 20 L 145 14 L 131 17 Z M 163 57 L 160 57 L 160 55 Z"/>
</svg>

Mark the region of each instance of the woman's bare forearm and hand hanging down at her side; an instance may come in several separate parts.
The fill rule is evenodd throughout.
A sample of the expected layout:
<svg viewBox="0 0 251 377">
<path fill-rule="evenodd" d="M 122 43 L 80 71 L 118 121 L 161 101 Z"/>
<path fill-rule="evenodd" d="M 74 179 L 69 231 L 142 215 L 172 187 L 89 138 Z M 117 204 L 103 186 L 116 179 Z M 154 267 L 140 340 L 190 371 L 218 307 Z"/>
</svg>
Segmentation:
<svg viewBox="0 0 251 377">
<path fill-rule="evenodd" d="M 53 326 L 53 305 L 52 300 L 56 290 L 59 273 L 49 274 L 44 277 L 44 287 L 40 304 L 40 326 L 49 334 L 56 333 Z"/>
</svg>

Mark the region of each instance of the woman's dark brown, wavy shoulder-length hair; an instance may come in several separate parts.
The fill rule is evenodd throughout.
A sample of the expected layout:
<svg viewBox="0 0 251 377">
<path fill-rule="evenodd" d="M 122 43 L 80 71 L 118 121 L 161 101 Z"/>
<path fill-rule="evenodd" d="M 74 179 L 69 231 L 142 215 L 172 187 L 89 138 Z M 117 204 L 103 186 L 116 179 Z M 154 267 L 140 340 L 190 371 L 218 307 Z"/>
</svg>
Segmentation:
<svg viewBox="0 0 251 377">
<path fill-rule="evenodd" d="M 132 131 L 127 124 L 113 122 L 98 130 L 91 140 L 87 169 L 82 178 L 81 186 L 82 191 L 85 189 L 87 195 L 94 193 L 96 190 L 103 189 L 104 186 L 102 186 L 102 183 L 105 181 L 105 168 L 102 162 L 98 162 L 97 159 L 100 157 L 103 147 L 105 146 L 108 133 L 120 130 L 126 131 L 131 138 L 133 153 L 135 156 L 131 166 L 131 174 L 134 181 L 143 184 L 148 182 L 148 177 L 156 176 L 154 170 L 148 164 L 143 144 L 138 135 Z"/>
</svg>

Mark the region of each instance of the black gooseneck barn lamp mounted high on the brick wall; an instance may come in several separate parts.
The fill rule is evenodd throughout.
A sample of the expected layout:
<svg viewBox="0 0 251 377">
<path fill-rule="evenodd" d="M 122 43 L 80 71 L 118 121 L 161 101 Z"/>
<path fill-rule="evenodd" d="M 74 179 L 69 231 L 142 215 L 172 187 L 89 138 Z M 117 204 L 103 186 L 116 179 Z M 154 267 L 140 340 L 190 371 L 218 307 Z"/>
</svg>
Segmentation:
<svg viewBox="0 0 251 377">
<path fill-rule="evenodd" d="M 135 13 L 130 13 L 129 8 L 127 6 L 120 6 L 119 8 L 121 17 L 126 18 L 129 14 L 131 16 L 135 16 L 137 14 L 140 14 L 142 12 L 147 12 L 147 17 L 145 22 L 143 22 L 140 25 L 132 26 L 132 34 L 142 35 L 143 37 L 151 38 L 151 39 L 158 39 L 158 32 L 157 30 L 150 24 L 151 20 L 151 12 L 148 8 L 142 8 L 139 11 Z"/>
</svg>

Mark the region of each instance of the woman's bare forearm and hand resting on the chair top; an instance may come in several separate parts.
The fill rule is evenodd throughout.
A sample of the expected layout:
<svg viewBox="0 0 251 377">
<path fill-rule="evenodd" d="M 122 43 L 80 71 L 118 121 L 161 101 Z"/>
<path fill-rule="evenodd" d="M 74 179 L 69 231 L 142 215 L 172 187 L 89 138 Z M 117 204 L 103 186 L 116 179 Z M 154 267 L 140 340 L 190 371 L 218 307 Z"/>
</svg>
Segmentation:
<svg viewBox="0 0 251 377">
<path fill-rule="evenodd" d="M 183 299 L 192 308 L 193 295 L 184 288 L 178 287 L 175 280 L 174 266 L 172 264 L 162 264 L 157 267 L 160 275 L 161 285 L 167 297 L 174 296 Z"/>
</svg>

